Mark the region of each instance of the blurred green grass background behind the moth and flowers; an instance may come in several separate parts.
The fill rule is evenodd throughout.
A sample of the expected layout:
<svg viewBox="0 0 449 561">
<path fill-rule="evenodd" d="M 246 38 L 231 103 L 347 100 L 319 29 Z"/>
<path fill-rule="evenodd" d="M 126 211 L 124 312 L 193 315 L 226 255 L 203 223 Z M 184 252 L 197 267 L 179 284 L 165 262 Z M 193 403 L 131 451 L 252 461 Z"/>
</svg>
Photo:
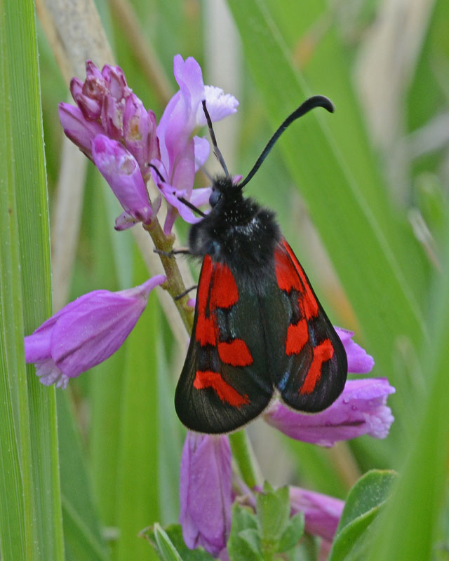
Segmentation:
<svg viewBox="0 0 449 561">
<path fill-rule="evenodd" d="M 173 392 L 187 336 L 173 335 L 153 294 L 119 352 L 66 392 L 43 388 L 32 366 L 25 372 L 22 334 L 51 313 L 46 184 L 55 309 L 149 273 L 131 232 L 113 229 L 119 203 L 100 174 L 63 156 L 57 107 L 68 83 L 51 47 L 52 3 L 36 3 L 36 22 L 33 4 L 19 4 L 0 6 L 1 553 L 48 560 L 64 548 L 67 560 L 153 559 L 136 535 L 177 520 L 185 431 Z M 344 498 L 368 469 L 397 470 L 370 558 L 448 559 L 448 2 L 96 5 L 128 85 L 158 118 L 175 92 L 176 53 L 194 56 L 206 84 L 239 99 L 238 113 L 215 128 L 234 174 L 248 173 L 305 97 L 333 100 L 335 114 L 317 110 L 290 127 L 247 191 L 276 210 L 333 323 L 354 330 L 374 356 L 373 376 L 396 387 L 396 421 L 386 440 L 332 450 L 282 438 L 262 421 L 248 433 L 274 485 Z M 155 88 L 152 72 L 165 86 Z M 78 203 L 67 206 L 67 194 Z M 176 243 L 185 245 L 187 229 L 177 227 Z"/>
</svg>

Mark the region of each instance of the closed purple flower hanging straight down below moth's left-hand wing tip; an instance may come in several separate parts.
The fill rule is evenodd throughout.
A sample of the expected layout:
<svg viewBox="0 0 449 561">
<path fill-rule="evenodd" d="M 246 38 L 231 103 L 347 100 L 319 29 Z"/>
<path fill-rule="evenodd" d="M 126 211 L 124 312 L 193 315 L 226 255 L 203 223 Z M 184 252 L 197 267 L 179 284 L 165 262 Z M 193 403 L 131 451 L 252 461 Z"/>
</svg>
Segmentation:
<svg viewBox="0 0 449 561">
<path fill-rule="evenodd" d="M 226 435 L 187 432 L 181 457 L 180 522 L 188 548 L 217 556 L 231 530 L 231 448 Z"/>
</svg>

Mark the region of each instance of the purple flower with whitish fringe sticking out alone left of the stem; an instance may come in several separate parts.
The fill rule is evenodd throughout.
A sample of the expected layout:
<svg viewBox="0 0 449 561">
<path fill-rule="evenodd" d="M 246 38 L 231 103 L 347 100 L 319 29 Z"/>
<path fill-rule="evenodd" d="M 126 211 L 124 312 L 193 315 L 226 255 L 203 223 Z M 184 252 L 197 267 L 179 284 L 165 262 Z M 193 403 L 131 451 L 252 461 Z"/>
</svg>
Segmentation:
<svg viewBox="0 0 449 561">
<path fill-rule="evenodd" d="M 145 310 L 149 292 L 165 280 L 157 275 L 128 290 L 89 292 L 25 337 L 25 359 L 36 364 L 42 384 L 65 388 L 69 378 L 115 353 Z"/>
</svg>

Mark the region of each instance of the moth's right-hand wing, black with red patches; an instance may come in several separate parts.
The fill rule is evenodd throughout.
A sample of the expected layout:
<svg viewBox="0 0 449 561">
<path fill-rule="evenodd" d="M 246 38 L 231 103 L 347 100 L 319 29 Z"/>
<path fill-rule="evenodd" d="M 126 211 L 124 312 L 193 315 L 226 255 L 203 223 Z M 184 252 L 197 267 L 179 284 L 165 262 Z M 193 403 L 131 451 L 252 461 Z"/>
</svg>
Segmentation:
<svg viewBox="0 0 449 561">
<path fill-rule="evenodd" d="M 347 378 L 343 344 L 285 239 L 274 252 L 276 290 L 263 307 L 272 381 L 295 410 L 319 412 L 342 393 Z"/>
</svg>

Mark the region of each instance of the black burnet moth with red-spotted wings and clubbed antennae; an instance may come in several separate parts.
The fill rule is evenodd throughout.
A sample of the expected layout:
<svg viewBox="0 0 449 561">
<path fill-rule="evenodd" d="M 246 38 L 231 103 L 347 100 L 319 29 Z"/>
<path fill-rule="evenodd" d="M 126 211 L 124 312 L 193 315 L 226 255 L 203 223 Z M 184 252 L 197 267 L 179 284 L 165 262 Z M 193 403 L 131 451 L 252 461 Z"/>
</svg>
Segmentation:
<svg viewBox="0 0 449 561">
<path fill-rule="evenodd" d="M 234 431 L 274 396 L 294 410 L 314 413 L 342 393 L 347 357 L 340 338 L 274 212 L 243 196 L 279 136 L 314 107 L 333 111 L 327 97 L 310 97 L 276 130 L 246 179 L 234 182 L 203 102 L 225 173 L 213 180 L 210 212 L 195 209 L 202 219 L 189 232 L 189 254 L 203 264 L 175 407 L 192 431 Z"/>
</svg>

